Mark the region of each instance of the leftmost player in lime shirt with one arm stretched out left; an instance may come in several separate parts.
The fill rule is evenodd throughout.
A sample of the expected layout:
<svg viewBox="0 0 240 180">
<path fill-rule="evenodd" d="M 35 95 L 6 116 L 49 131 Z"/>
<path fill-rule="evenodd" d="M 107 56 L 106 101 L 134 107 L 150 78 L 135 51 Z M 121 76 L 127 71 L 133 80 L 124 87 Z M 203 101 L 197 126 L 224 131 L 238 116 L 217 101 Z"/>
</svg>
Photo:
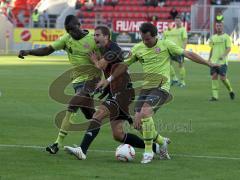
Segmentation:
<svg viewBox="0 0 240 180">
<path fill-rule="evenodd" d="M 24 58 L 27 55 L 46 56 L 62 49 L 67 52 L 69 62 L 74 67 L 72 83 L 75 95 L 69 102 L 55 143 L 46 148 L 46 151 L 51 154 L 56 154 L 59 147 L 62 146 L 63 140 L 70 130 L 70 120 L 76 115 L 79 107 L 86 119 L 92 118 L 95 109 L 94 101 L 90 94 L 94 92 L 96 84 L 101 77 L 101 71 L 93 65 L 88 56 L 89 52 L 97 48 L 93 35 L 89 34 L 87 30 L 82 30 L 78 18 L 73 15 L 66 17 L 64 25 L 67 33 L 51 45 L 44 48 L 21 50 L 19 52 L 19 58 Z"/>
</svg>

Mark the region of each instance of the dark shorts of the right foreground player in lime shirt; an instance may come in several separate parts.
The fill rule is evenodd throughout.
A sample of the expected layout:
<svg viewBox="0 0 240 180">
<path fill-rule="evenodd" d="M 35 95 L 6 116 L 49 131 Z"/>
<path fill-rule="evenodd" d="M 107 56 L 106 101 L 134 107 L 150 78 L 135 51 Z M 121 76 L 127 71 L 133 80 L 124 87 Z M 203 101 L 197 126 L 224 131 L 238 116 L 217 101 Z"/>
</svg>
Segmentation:
<svg viewBox="0 0 240 180">
<path fill-rule="evenodd" d="M 140 112 L 144 103 L 149 104 L 156 112 L 163 104 L 172 100 L 172 95 L 167 91 L 152 88 L 141 90 L 135 105 L 135 112 Z"/>
</svg>

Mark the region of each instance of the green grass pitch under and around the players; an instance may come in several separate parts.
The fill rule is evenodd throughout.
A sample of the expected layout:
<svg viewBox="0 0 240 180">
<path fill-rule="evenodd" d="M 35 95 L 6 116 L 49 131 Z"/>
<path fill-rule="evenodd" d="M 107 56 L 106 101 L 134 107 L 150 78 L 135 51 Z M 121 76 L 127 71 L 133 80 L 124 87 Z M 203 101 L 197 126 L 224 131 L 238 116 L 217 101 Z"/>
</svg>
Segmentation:
<svg viewBox="0 0 240 180">
<path fill-rule="evenodd" d="M 154 116 L 157 127 L 172 140 L 172 160 L 140 164 L 142 150 L 130 163 L 115 160 L 119 145 L 105 125 L 88 159 L 78 161 L 60 150 L 44 151 L 58 129 L 54 116 L 65 105 L 53 101 L 48 88 L 71 66 L 64 57 L 0 57 L 0 179 L 239 179 L 239 63 L 229 64 L 236 92 L 231 101 L 220 86 L 220 101 L 209 102 L 209 69 L 186 62 L 187 87 L 173 87 L 174 101 Z M 131 67 L 137 71 L 138 66 Z M 71 91 L 69 86 L 67 91 Z M 83 132 L 70 133 L 65 144 L 79 144 Z"/>
</svg>

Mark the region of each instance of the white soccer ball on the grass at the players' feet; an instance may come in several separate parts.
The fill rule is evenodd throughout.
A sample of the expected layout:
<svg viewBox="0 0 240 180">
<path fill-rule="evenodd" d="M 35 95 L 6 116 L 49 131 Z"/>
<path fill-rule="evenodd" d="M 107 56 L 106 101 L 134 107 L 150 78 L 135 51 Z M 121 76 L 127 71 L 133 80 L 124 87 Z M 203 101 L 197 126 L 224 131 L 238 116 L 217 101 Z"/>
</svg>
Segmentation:
<svg viewBox="0 0 240 180">
<path fill-rule="evenodd" d="M 135 157 L 135 150 L 129 144 L 121 144 L 116 149 L 115 157 L 118 161 L 132 161 Z"/>
</svg>

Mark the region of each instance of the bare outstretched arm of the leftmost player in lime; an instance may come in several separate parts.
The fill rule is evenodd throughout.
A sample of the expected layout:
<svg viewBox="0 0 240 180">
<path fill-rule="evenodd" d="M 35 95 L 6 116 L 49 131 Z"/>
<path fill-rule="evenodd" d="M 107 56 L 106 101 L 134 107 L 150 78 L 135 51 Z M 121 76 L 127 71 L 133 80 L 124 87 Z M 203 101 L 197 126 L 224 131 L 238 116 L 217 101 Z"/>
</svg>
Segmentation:
<svg viewBox="0 0 240 180">
<path fill-rule="evenodd" d="M 55 50 L 52 46 L 47 46 L 43 48 L 30 49 L 30 50 L 20 50 L 18 57 L 24 59 L 24 56 L 33 55 L 33 56 L 47 56 L 52 54 Z"/>
</svg>

